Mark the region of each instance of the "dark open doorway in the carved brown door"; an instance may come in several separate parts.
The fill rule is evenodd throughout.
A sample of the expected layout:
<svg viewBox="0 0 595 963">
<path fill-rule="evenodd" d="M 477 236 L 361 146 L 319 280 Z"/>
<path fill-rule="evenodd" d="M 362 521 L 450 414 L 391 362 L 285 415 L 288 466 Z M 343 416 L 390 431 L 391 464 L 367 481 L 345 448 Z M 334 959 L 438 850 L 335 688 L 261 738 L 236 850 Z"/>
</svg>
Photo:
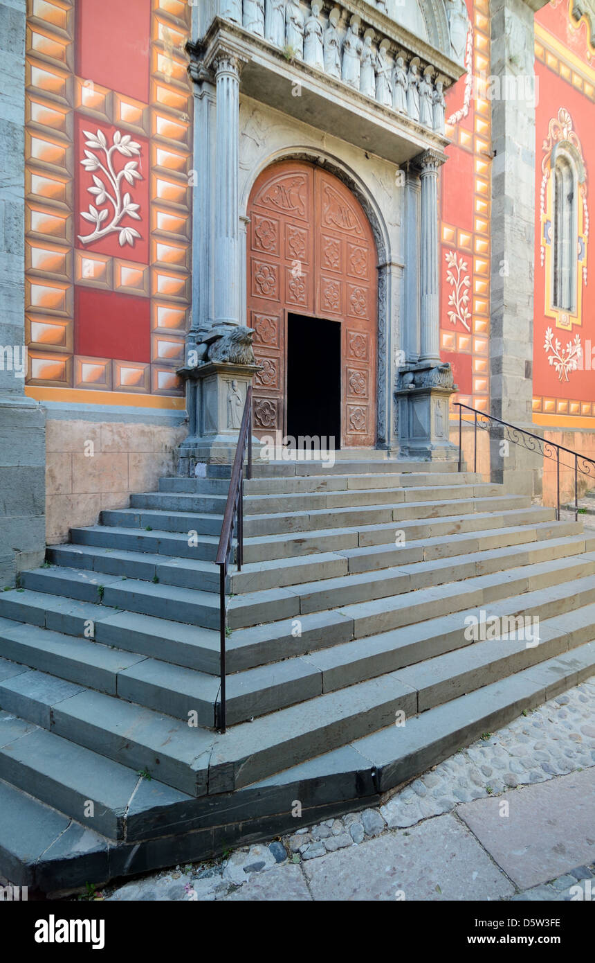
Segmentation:
<svg viewBox="0 0 595 963">
<path fill-rule="evenodd" d="M 287 434 L 341 447 L 341 325 L 287 317 Z"/>
</svg>

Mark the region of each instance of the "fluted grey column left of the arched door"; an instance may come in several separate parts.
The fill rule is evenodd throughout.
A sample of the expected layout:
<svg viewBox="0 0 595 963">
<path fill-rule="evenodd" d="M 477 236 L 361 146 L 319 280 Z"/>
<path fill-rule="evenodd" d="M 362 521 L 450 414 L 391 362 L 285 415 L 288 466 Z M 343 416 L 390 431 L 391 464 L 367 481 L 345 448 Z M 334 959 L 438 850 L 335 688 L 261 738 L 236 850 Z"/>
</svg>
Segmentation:
<svg viewBox="0 0 595 963">
<path fill-rule="evenodd" d="M 218 52 L 216 85 L 214 203 L 214 323 L 239 324 L 239 71 L 234 53 Z"/>
</svg>

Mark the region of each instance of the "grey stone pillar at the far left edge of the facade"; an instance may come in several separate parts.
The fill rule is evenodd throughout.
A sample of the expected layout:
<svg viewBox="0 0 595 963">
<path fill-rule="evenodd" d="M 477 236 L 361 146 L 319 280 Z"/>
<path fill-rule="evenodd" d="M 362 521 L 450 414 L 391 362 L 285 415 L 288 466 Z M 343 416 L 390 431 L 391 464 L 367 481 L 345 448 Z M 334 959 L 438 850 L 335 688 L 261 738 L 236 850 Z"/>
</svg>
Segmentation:
<svg viewBox="0 0 595 963">
<path fill-rule="evenodd" d="M 0 590 L 45 551 L 45 411 L 25 395 L 25 0 L 0 0 Z"/>
</svg>

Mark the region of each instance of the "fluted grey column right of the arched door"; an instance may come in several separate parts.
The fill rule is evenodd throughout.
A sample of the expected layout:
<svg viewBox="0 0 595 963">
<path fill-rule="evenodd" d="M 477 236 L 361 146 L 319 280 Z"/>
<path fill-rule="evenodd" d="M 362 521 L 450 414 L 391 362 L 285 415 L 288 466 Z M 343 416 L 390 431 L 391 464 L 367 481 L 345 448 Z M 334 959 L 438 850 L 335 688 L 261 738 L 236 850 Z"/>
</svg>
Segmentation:
<svg viewBox="0 0 595 963">
<path fill-rule="evenodd" d="M 419 158 L 421 169 L 420 229 L 420 361 L 438 363 L 439 289 L 438 289 L 438 169 L 444 156 L 427 150 Z"/>
</svg>

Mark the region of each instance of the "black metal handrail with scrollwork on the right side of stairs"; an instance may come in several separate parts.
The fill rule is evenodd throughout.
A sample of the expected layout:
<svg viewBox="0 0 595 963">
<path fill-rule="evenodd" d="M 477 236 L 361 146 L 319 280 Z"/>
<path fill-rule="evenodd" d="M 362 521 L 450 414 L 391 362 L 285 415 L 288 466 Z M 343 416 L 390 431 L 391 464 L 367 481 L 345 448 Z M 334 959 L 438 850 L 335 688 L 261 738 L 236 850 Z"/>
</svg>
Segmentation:
<svg viewBox="0 0 595 963">
<path fill-rule="evenodd" d="M 492 428 L 491 423 L 496 422 L 501 429 L 503 429 L 503 435 L 511 441 L 514 445 L 521 445 L 526 448 L 529 452 L 538 452 L 539 455 L 543 455 L 544 458 L 550 458 L 556 461 L 556 476 L 557 476 L 557 508 L 556 508 L 556 518 L 559 521 L 559 469 L 560 465 L 562 468 L 570 468 L 574 470 L 575 473 L 575 521 L 579 518 L 579 475 L 587 475 L 590 478 L 595 479 L 595 461 L 592 458 L 587 458 L 585 455 L 579 455 L 578 452 L 573 452 L 571 448 L 564 448 L 563 445 L 558 445 L 555 441 L 547 441 L 538 434 L 533 434 L 532 431 L 526 431 L 524 428 L 518 428 L 516 425 L 509 425 L 508 422 L 502 421 L 501 418 L 496 418 L 495 415 L 487 415 L 484 411 L 480 411 L 478 408 L 472 408 L 468 404 L 462 404 L 456 402 L 455 406 L 459 408 L 459 471 L 462 465 L 462 408 L 467 411 L 472 411 L 474 414 L 473 426 L 473 471 L 477 472 L 477 429 L 483 429 L 485 431 L 490 431 Z M 479 415 L 479 419 L 478 419 Z M 483 419 L 483 420 L 482 420 Z M 465 419 L 465 425 L 470 424 L 468 419 Z M 531 438 L 532 441 L 526 439 Z M 535 442 L 537 444 L 535 444 Z M 567 455 L 572 455 L 574 459 L 574 464 L 569 465 L 565 462 L 560 462 L 559 453 L 566 452 Z"/>
</svg>

